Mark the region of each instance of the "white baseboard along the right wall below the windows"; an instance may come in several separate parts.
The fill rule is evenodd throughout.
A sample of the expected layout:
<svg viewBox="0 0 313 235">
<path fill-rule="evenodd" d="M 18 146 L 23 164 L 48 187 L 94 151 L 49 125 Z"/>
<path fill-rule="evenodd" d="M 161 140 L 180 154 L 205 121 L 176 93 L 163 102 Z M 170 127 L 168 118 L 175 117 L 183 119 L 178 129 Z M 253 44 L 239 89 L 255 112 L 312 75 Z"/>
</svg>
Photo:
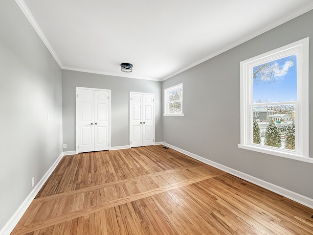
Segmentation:
<svg viewBox="0 0 313 235">
<path fill-rule="evenodd" d="M 253 183 L 255 185 L 258 185 L 262 188 L 266 188 L 272 192 L 275 192 L 275 193 L 278 193 L 279 195 L 282 195 L 284 197 L 287 197 L 293 201 L 296 201 L 304 206 L 307 206 L 307 207 L 310 207 L 313 209 L 313 199 L 312 198 L 309 198 L 309 197 L 306 197 L 306 196 L 303 196 L 299 193 L 296 193 L 296 192 L 293 192 L 289 189 L 286 189 L 286 188 L 282 188 L 280 186 L 277 186 L 277 185 L 274 185 L 272 183 L 269 183 L 267 181 L 264 181 L 264 180 L 261 180 L 259 178 L 256 178 L 254 176 L 251 176 L 251 175 L 248 175 L 246 173 L 243 173 L 241 171 L 238 171 L 238 170 L 235 170 L 235 169 L 232 169 L 228 166 L 224 166 L 222 164 L 219 164 L 219 163 L 216 163 L 216 162 L 213 162 L 211 160 L 208 160 L 206 158 L 203 158 L 201 156 L 198 156 L 196 154 L 193 154 L 193 153 L 190 153 L 188 151 L 185 151 L 181 148 L 178 148 L 174 145 L 171 145 L 171 144 L 168 144 L 168 143 L 164 143 L 165 146 L 169 147 L 169 148 L 172 148 L 174 150 L 177 150 L 179 151 L 180 153 L 183 153 L 191 158 L 194 158 L 196 160 L 199 160 L 200 162 L 202 163 L 205 163 L 205 164 L 208 164 L 208 165 L 211 165 L 211 166 L 214 166 L 220 170 L 223 170 L 229 174 L 232 174 L 234 176 L 237 176 L 241 179 L 244 179 L 250 183 Z"/>
</svg>

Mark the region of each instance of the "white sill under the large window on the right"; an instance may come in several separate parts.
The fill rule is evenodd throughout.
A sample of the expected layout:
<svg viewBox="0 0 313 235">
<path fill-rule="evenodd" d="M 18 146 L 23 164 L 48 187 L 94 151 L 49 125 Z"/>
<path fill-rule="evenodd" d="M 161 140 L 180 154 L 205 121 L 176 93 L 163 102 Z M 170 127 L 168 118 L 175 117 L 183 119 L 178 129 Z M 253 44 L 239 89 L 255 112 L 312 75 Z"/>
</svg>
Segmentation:
<svg viewBox="0 0 313 235">
<path fill-rule="evenodd" d="M 244 144 L 238 144 L 238 147 L 246 149 L 246 150 L 251 150 L 251 151 L 260 152 L 260 153 L 266 153 L 266 154 L 270 154 L 270 155 L 275 155 L 275 156 L 279 156 L 279 157 L 283 157 L 283 158 L 289 158 L 289 159 L 298 160 L 298 161 L 313 164 L 313 158 L 302 157 L 301 155 L 296 155 L 293 153 L 287 153 L 287 152 L 282 152 L 279 150 L 266 149 L 266 148 L 262 148 L 262 147 L 258 147 L 258 146 L 244 145 Z"/>
</svg>

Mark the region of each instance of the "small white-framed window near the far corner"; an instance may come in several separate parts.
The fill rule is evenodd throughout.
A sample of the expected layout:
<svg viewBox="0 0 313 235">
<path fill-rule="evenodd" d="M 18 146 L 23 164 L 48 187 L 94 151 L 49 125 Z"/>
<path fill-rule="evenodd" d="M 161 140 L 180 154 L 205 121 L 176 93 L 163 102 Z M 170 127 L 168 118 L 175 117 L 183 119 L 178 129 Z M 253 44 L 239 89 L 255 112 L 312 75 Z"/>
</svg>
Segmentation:
<svg viewBox="0 0 313 235">
<path fill-rule="evenodd" d="M 164 89 L 164 116 L 184 116 L 182 113 L 182 83 Z"/>
</svg>

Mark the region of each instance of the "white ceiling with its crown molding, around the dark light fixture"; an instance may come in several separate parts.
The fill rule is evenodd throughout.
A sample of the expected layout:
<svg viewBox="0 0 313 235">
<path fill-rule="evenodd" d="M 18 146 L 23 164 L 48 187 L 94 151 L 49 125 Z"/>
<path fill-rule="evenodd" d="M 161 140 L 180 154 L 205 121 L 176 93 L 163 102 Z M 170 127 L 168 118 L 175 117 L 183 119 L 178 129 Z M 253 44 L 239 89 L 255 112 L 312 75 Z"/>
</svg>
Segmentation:
<svg viewBox="0 0 313 235">
<path fill-rule="evenodd" d="M 313 0 L 16 2 L 62 69 L 160 81 L 313 9 Z"/>
</svg>

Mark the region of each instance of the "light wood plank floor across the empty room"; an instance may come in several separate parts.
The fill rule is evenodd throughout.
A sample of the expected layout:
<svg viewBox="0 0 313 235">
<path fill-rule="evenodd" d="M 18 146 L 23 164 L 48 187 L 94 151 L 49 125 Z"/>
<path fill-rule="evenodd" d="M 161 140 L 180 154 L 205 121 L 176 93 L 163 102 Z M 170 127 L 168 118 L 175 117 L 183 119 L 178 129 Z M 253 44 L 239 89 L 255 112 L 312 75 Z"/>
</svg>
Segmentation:
<svg viewBox="0 0 313 235">
<path fill-rule="evenodd" d="M 162 147 L 65 156 L 12 235 L 313 234 L 313 209 Z"/>
</svg>

